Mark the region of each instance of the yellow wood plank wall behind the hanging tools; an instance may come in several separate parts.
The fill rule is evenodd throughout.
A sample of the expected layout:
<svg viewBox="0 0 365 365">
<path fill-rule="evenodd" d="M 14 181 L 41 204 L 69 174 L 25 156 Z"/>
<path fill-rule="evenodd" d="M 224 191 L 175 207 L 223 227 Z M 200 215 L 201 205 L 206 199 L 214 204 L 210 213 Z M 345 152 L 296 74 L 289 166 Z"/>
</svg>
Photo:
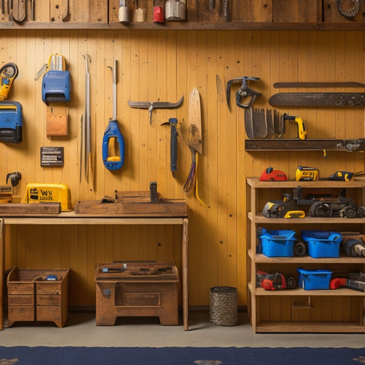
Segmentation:
<svg viewBox="0 0 365 365">
<path fill-rule="evenodd" d="M 45 134 L 41 81 L 34 81 L 49 55 L 61 53 L 71 72 L 68 137 Z M 80 120 L 85 108 L 85 61 L 92 59 L 91 121 L 95 190 L 79 182 Z M 111 172 L 101 158 L 103 131 L 112 116 L 112 75 L 118 61 L 118 122 L 125 138 L 125 166 Z M 9 99 L 23 105 L 23 142 L 0 144 L 0 184 L 19 171 L 16 193 L 23 197 L 28 182 L 53 182 L 71 188 L 78 200 L 101 199 L 114 190 L 148 190 L 158 182 L 166 198 L 184 198 L 190 208 L 190 305 L 208 305 L 212 286 L 236 286 L 239 304 L 246 293 L 245 177 L 260 176 L 273 166 L 294 179 L 299 164 L 320 168 L 323 177 L 336 170 L 364 170 L 363 153 L 245 153 L 244 110 L 229 112 L 225 87 L 234 77 L 255 76 L 251 84 L 263 93 L 255 106 L 271 108 L 268 98 L 276 81 L 364 82 L 364 32 L 240 32 L 240 31 L 96 31 L 27 30 L 1 32 L 0 62 L 15 62 L 19 75 Z M 187 147 L 188 96 L 201 95 L 203 155 L 199 158 L 199 193 L 210 207 L 183 191 L 190 168 Z M 172 101 L 174 110 L 131 109 L 128 100 Z M 281 108 L 300 115 L 308 138 L 364 137 L 364 109 Z M 170 130 L 161 124 L 178 119 L 178 171 L 169 170 Z M 294 125 L 286 137 L 296 136 Z M 64 168 L 40 167 L 40 147 L 63 146 Z M 18 226 L 8 227 L 6 267 L 71 267 L 70 305 L 95 305 L 94 270 L 112 260 L 175 260 L 181 268 L 179 227 Z"/>
</svg>

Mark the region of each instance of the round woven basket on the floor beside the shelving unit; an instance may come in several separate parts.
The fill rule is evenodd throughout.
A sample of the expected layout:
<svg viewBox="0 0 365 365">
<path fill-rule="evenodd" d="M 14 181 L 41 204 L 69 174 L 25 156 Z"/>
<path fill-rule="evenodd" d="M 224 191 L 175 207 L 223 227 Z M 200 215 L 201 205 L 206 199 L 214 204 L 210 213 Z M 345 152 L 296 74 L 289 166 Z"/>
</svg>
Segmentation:
<svg viewBox="0 0 365 365">
<path fill-rule="evenodd" d="M 209 315 L 210 322 L 214 325 L 237 325 L 237 288 L 231 286 L 214 286 L 214 288 L 210 288 Z"/>
</svg>

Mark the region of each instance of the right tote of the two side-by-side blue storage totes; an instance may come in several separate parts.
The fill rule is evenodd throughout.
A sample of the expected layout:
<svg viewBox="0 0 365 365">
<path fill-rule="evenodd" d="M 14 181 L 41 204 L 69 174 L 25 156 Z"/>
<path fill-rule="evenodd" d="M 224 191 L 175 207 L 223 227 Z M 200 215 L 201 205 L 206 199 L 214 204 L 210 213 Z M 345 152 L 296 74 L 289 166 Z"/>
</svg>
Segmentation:
<svg viewBox="0 0 365 365">
<path fill-rule="evenodd" d="M 340 257 L 339 232 L 331 231 L 301 231 L 301 238 L 308 244 L 308 255 L 318 257 Z"/>
</svg>

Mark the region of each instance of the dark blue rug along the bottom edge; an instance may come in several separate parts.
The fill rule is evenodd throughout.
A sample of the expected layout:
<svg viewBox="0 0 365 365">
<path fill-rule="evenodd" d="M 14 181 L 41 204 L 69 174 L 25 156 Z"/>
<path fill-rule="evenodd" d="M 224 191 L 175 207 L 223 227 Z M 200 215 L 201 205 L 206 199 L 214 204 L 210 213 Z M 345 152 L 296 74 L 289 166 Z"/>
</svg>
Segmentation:
<svg viewBox="0 0 365 365">
<path fill-rule="evenodd" d="M 0 365 L 356 365 L 364 349 L 0 347 Z"/>
</svg>

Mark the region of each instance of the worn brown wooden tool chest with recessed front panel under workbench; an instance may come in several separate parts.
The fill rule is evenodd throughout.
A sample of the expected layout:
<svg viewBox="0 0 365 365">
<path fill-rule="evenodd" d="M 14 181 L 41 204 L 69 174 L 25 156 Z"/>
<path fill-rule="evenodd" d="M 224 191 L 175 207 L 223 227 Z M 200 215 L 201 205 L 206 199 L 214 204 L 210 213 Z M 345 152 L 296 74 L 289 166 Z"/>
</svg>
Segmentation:
<svg viewBox="0 0 365 365">
<path fill-rule="evenodd" d="M 112 326 L 118 316 L 158 316 L 161 325 L 179 324 L 179 273 L 173 264 L 99 264 L 95 283 L 98 326 Z"/>
</svg>

